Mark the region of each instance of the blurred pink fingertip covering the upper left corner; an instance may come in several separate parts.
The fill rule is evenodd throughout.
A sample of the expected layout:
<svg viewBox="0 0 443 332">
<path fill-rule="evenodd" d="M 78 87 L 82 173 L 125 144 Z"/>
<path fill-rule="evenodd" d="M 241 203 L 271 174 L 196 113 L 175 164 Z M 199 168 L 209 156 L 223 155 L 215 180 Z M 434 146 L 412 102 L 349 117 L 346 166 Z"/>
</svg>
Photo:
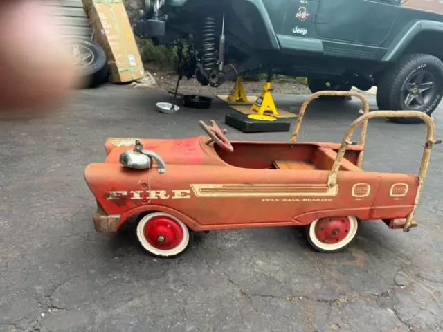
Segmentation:
<svg viewBox="0 0 443 332">
<path fill-rule="evenodd" d="M 58 104 L 76 84 L 54 17 L 35 0 L 0 0 L 0 112 Z"/>
</svg>

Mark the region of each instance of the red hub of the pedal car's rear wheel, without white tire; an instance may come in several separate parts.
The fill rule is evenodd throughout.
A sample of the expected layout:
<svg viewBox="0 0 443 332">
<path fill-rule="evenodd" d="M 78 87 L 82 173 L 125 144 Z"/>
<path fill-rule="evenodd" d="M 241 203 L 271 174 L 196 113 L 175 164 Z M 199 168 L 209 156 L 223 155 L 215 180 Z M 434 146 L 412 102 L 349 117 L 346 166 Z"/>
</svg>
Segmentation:
<svg viewBox="0 0 443 332">
<path fill-rule="evenodd" d="M 351 222 L 347 216 L 323 218 L 316 223 L 316 237 L 323 243 L 338 243 L 343 241 L 351 230 Z"/>
</svg>

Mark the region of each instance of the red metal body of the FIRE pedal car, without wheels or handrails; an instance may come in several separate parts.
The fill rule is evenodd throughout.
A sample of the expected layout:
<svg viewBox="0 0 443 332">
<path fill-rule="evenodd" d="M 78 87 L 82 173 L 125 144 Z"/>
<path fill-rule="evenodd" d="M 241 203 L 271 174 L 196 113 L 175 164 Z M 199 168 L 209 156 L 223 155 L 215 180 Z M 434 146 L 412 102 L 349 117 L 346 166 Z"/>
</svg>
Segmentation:
<svg viewBox="0 0 443 332">
<path fill-rule="evenodd" d="M 135 170 L 120 165 L 120 153 L 134 145 L 116 146 L 113 140 L 105 145 L 105 163 L 93 163 L 85 171 L 101 210 L 119 216 L 109 231 L 148 210 L 176 215 L 192 230 L 307 225 L 323 216 L 406 218 L 418 186 L 414 175 L 363 172 L 355 165 L 360 146 L 350 147 L 336 186 L 328 187 L 340 145 L 232 142 L 235 152 L 229 154 L 206 145 L 205 137 L 141 140 L 165 161 L 166 172 L 159 174 L 155 166 Z M 277 169 L 275 160 L 305 168 Z M 395 186 L 407 191 L 396 196 Z"/>
</svg>

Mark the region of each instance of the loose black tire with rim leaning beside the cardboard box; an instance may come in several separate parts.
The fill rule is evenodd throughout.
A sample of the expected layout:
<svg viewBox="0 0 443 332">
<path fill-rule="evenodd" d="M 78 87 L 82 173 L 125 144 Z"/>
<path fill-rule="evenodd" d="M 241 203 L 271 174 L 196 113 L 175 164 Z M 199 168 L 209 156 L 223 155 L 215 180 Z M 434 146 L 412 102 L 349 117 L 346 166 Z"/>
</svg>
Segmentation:
<svg viewBox="0 0 443 332">
<path fill-rule="evenodd" d="M 68 40 L 71 58 L 80 81 L 79 88 L 93 88 L 107 80 L 108 64 L 105 50 L 88 39 Z"/>
</svg>

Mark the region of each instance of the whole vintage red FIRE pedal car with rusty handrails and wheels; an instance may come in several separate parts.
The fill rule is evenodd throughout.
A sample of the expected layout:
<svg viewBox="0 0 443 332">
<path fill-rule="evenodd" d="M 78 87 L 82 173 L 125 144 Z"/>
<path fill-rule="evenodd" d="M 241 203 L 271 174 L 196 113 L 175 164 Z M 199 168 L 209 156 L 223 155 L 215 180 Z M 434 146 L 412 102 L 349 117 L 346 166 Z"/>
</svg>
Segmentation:
<svg viewBox="0 0 443 332">
<path fill-rule="evenodd" d="M 307 105 L 321 95 L 353 95 L 363 115 L 341 144 L 296 142 Z M 116 232 L 138 216 L 138 241 L 152 255 L 174 257 L 192 232 L 305 226 L 311 246 L 336 252 L 356 237 L 359 221 L 381 219 L 408 232 L 435 140 L 433 120 L 419 111 L 368 112 L 363 95 L 320 91 L 300 109 L 289 142 L 230 142 L 215 122 L 199 122 L 209 136 L 186 139 L 109 138 L 104 163 L 91 163 L 85 180 L 97 201 L 98 232 Z M 361 168 L 368 120 L 421 118 L 428 129 L 418 176 Z M 361 127 L 359 143 L 351 142 Z"/>
</svg>

